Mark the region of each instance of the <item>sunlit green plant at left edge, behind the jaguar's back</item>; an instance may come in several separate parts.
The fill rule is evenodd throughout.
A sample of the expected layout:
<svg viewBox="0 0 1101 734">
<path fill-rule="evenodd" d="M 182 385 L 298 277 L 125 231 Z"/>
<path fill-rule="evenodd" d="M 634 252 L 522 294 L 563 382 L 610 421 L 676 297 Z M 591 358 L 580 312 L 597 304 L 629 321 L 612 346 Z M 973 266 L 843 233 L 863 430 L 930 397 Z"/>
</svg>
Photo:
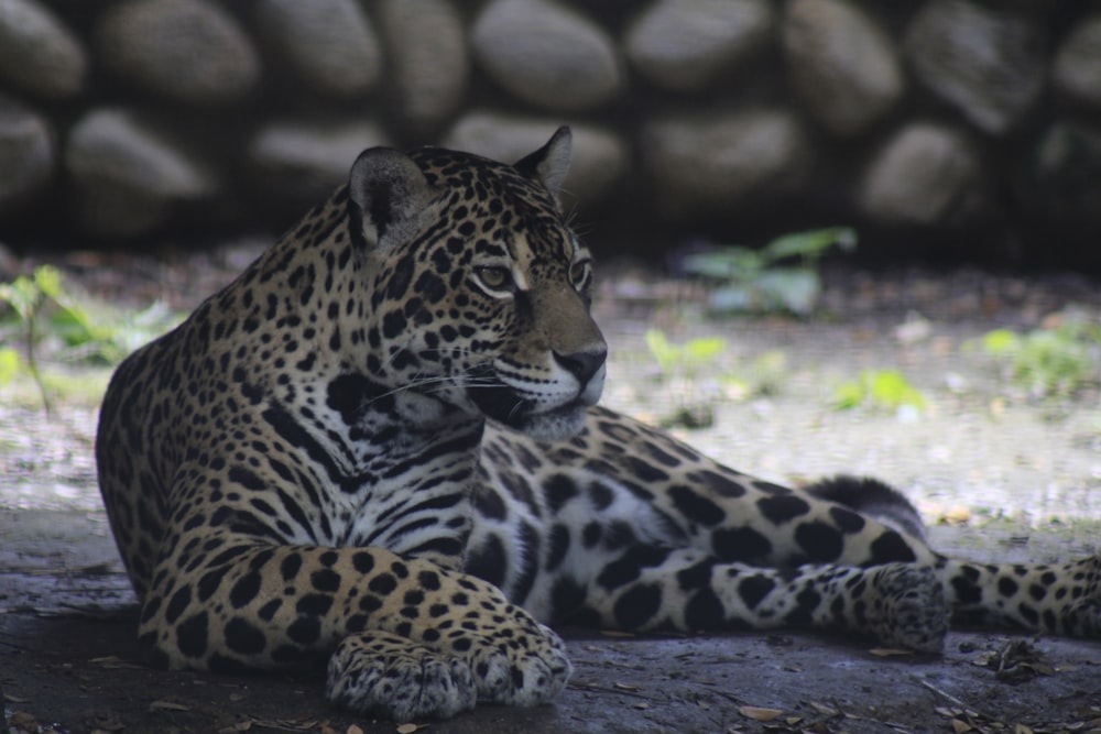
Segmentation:
<svg viewBox="0 0 1101 734">
<path fill-rule="evenodd" d="M 66 289 L 61 272 L 52 265 L 0 284 L 2 304 L 7 304 L 9 313 L 0 313 L 0 329 L 13 333 L 22 349 L 0 348 L 0 387 L 25 372 L 34 381 L 47 414 L 52 405 L 41 368 L 44 359 L 115 365 L 178 322 L 178 317 L 162 304 L 120 315 L 81 300 Z"/>
</svg>

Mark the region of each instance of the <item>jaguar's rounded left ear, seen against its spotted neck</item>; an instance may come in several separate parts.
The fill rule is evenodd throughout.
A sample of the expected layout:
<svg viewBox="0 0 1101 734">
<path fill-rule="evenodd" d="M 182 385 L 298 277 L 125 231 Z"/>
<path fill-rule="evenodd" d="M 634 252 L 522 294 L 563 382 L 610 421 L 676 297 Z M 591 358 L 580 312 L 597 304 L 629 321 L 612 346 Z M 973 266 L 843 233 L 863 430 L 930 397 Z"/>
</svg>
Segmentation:
<svg viewBox="0 0 1101 734">
<path fill-rule="evenodd" d="M 435 194 L 410 156 L 390 147 L 363 151 L 348 177 L 352 239 L 364 249 L 400 244 L 413 234 L 417 215 Z"/>
</svg>

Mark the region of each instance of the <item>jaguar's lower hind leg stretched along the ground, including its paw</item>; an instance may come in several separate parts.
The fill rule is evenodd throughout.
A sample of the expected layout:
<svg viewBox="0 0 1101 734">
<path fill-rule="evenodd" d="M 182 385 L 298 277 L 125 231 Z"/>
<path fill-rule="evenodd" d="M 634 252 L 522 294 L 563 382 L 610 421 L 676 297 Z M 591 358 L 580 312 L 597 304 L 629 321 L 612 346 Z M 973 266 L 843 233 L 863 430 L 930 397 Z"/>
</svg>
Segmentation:
<svg viewBox="0 0 1101 734">
<path fill-rule="evenodd" d="M 566 623 L 617 629 L 832 629 L 939 651 L 948 605 L 934 568 L 807 565 L 777 570 L 722 562 L 689 548 L 636 546 L 587 584 L 553 592 Z"/>
</svg>

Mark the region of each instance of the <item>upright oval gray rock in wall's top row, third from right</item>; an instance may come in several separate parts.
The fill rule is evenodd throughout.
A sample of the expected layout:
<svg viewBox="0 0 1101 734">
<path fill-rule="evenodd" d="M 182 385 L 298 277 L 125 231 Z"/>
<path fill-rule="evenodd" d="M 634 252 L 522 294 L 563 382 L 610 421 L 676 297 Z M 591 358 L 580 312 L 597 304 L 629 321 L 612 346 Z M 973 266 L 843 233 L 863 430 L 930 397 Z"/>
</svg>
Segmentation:
<svg viewBox="0 0 1101 734">
<path fill-rule="evenodd" d="M 795 0 L 784 19 L 792 86 L 839 136 L 865 132 L 897 107 L 902 65 L 887 33 L 846 0 Z"/>
</svg>

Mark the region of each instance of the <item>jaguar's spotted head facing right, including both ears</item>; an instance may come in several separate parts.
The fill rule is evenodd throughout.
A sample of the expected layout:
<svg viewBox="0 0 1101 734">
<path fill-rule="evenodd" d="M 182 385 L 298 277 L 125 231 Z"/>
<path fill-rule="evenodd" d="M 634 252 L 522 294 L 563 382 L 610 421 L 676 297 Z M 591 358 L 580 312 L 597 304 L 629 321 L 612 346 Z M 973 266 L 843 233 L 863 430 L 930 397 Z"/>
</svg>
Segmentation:
<svg viewBox="0 0 1101 734">
<path fill-rule="evenodd" d="M 603 388 L 591 258 L 555 194 L 570 133 L 505 165 L 426 147 L 362 153 L 349 227 L 364 253 L 368 370 L 538 440 L 580 430 Z"/>
</svg>

